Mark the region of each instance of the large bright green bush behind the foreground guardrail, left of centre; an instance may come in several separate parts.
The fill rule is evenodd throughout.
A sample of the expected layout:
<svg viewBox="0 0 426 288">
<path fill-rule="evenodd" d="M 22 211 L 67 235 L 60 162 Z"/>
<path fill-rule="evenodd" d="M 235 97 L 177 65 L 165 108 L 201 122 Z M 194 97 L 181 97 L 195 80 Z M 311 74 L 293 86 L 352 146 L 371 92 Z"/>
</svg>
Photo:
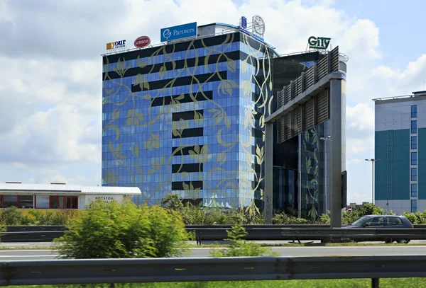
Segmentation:
<svg viewBox="0 0 426 288">
<path fill-rule="evenodd" d="M 55 246 L 62 258 L 177 257 L 186 251 L 180 214 L 131 202 L 92 202 Z"/>
</svg>

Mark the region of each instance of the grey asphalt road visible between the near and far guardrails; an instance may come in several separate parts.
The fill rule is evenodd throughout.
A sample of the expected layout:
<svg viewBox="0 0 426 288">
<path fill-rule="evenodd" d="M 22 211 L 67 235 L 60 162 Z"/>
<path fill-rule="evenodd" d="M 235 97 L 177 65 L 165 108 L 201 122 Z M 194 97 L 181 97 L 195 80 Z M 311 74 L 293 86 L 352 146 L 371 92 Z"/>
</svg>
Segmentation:
<svg viewBox="0 0 426 288">
<path fill-rule="evenodd" d="M 209 250 L 211 248 L 193 248 L 189 257 L 209 257 Z M 272 250 L 283 256 L 426 255 L 426 246 L 276 247 Z M 0 261 L 53 259 L 58 259 L 55 250 L 0 250 Z"/>
</svg>

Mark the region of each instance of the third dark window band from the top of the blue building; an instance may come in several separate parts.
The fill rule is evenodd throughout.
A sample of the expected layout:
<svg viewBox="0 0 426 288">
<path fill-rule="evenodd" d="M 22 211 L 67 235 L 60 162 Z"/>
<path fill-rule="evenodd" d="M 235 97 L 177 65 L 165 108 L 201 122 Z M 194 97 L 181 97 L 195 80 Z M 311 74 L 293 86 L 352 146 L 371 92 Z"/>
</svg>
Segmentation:
<svg viewBox="0 0 426 288">
<path fill-rule="evenodd" d="M 205 74 L 200 74 L 200 75 L 196 75 L 196 76 L 179 77 L 178 79 L 175 79 L 175 81 L 173 82 L 173 87 L 195 84 L 195 83 L 197 83 L 197 81 L 195 81 L 195 79 L 197 79 L 198 82 L 200 82 L 200 83 L 208 83 L 208 82 L 226 80 L 227 79 L 227 72 L 226 71 L 220 71 L 217 74 L 205 73 Z M 133 86 L 131 86 L 131 91 L 134 93 L 134 92 L 141 92 L 141 91 L 148 91 L 148 90 L 166 88 L 166 87 L 171 85 L 170 84 L 171 81 L 172 81 L 172 79 L 151 81 L 151 82 L 148 82 L 149 83 L 149 89 L 144 87 L 143 90 L 141 88 L 141 85 L 136 85 L 136 86 L 133 85 Z"/>
</svg>

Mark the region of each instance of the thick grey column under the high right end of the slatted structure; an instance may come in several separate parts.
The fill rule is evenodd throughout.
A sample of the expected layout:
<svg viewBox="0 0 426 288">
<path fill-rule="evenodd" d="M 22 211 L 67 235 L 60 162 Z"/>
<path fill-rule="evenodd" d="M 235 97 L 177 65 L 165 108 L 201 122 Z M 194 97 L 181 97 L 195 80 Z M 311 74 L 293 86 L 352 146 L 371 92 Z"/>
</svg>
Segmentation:
<svg viewBox="0 0 426 288">
<path fill-rule="evenodd" d="M 331 226 L 339 228 L 342 227 L 342 80 L 340 79 L 330 81 L 330 126 Z"/>
</svg>

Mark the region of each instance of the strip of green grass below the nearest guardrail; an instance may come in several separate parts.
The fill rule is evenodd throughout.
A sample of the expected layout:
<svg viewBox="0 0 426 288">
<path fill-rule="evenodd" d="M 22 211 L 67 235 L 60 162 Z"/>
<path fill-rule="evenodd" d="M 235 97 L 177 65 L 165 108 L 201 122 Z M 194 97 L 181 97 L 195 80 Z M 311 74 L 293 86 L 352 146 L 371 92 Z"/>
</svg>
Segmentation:
<svg viewBox="0 0 426 288">
<path fill-rule="evenodd" d="M 85 285 L 84 285 L 85 286 Z M 11 286 L 16 288 L 77 288 L 78 285 Z M 93 284 L 87 287 L 109 288 L 109 284 Z M 116 284 L 116 288 L 369 288 L 369 279 L 342 280 L 290 280 L 290 281 L 233 281 L 233 282 L 169 282 Z M 380 280 L 381 288 L 419 288 L 426 287 L 426 278 L 388 278 Z"/>
</svg>

